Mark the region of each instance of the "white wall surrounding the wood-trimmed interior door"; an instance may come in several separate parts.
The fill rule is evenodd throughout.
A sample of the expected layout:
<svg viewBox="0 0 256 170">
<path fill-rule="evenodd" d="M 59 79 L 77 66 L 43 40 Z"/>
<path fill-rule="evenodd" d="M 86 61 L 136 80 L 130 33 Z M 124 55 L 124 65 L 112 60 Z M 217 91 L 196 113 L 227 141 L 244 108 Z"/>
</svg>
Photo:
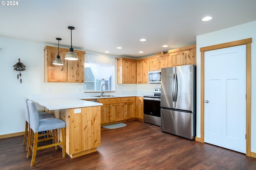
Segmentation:
<svg viewBox="0 0 256 170">
<path fill-rule="evenodd" d="M 252 107 L 251 107 L 251 151 L 256 152 L 256 21 L 224 30 L 204 34 L 196 37 L 196 62 L 197 62 L 197 116 L 196 136 L 200 137 L 200 70 L 201 53 L 200 48 L 220 43 L 232 42 L 252 38 Z M 227 63 L 228 64 L 228 63 Z M 239 69 L 239 68 L 238 68 Z"/>
</svg>

